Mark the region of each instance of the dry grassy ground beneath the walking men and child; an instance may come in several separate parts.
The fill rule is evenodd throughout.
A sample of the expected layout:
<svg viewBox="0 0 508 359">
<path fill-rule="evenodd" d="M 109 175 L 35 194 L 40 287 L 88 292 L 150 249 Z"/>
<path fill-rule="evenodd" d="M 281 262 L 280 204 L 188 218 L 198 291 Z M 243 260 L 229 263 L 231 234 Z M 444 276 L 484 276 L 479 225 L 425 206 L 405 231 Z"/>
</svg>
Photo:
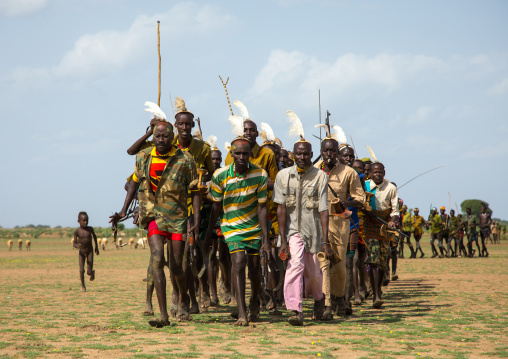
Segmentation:
<svg viewBox="0 0 508 359">
<path fill-rule="evenodd" d="M 233 327 L 230 306 L 149 327 L 141 315 L 148 249 L 110 244 L 82 293 L 69 241 L 32 242 L 30 252 L 0 248 L 0 358 L 508 357 L 506 241 L 485 259 L 399 259 L 381 310 L 365 303 L 351 317 L 315 323 L 306 301 L 304 327 L 264 312 L 245 329 Z"/>
</svg>

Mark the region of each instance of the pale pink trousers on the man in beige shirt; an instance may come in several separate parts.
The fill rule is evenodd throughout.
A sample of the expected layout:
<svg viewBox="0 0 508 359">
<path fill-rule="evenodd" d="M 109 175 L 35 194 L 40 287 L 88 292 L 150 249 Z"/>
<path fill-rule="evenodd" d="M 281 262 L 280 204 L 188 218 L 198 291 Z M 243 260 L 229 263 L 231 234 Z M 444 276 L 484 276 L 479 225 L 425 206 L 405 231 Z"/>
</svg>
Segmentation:
<svg viewBox="0 0 508 359">
<path fill-rule="evenodd" d="M 323 274 L 317 255 L 307 253 L 300 234 L 288 239 L 289 259 L 284 279 L 284 300 L 288 310 L 303 311 L 303 281 L 305 297 L 312 295 L 314 300 L 323 298 Z"/>
</svg>

